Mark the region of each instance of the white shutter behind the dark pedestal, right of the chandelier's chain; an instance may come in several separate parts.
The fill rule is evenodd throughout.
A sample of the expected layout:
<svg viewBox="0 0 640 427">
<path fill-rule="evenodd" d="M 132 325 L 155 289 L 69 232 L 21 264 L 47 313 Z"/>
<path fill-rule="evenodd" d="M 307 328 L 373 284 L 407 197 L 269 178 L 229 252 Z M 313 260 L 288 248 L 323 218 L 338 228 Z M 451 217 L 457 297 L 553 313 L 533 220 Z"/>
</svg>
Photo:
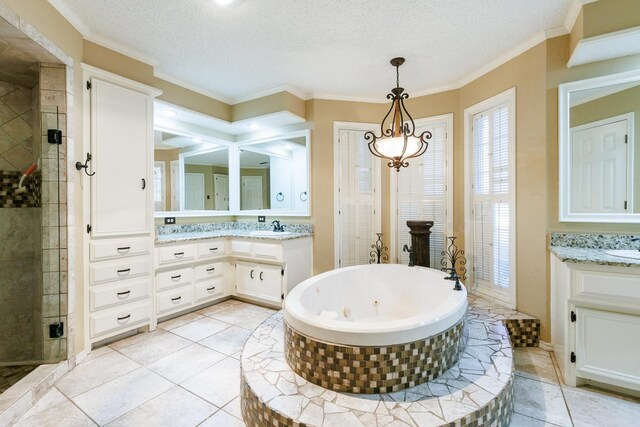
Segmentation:
<svg viewBox="0 0 640 427">
<path fill-rule="evenodd" d="M 446 235 L 446 150 L 447 125 L 444 123 L 419 127 L 416 134 L 428 130 L 432 133 L 425 154 L 409 159 L 409 166 L 398 173 L 397 236 L 398 262 L 407 264 L 409 254 L 402 251 L 411 246 L 407 221 L 433 221 L 430 236 L 430 263 L 440 268 Z"/>
</svg>

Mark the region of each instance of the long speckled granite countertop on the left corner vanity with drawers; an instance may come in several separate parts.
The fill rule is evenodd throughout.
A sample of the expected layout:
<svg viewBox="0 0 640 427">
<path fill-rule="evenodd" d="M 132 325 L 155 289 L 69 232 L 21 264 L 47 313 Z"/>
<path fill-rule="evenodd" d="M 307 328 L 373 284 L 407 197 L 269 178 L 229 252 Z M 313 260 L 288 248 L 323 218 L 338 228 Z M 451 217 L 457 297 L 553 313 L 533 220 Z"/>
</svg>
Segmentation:
<svg viewBox="0 0 640 427">
<path fill-rule="evenodd" d="M 310 224 L 283 223 L 283 226 L 285 227 L 284 233 L 260 235 L 256 234 L 256 232 L 269 232 L 271 226 L 265 223 L 252 222 L 160 225 L 156 227 L 156 245 L 224 237 L 282 241 L 313 236 L 313 226 Z"/>
</svg>

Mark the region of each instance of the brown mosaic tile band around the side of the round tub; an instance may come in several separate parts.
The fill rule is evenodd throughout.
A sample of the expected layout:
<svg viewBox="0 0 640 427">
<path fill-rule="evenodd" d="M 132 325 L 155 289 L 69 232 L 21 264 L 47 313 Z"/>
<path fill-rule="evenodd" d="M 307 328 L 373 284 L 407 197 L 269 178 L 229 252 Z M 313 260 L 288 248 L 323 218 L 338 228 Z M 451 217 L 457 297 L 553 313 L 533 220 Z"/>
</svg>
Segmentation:
<svg viewBox="0 0 640 427">
<path fill-rule="evenodd" d="M 326 343 L 284 326 L 291 369 L 313 384 L 348 393 L 390 393 L 431 381 L 458 361 L 464 347 L 464 320 L 432 337 L 383 347 Z"/>
</svg>

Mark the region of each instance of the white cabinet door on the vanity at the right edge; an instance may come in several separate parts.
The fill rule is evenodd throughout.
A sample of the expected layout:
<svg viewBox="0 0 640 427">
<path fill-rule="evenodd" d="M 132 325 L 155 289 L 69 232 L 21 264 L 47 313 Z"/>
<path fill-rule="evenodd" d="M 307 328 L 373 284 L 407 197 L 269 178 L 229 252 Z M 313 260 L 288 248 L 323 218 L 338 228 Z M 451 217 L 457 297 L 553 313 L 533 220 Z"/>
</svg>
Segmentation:
<svg viewBox="0 0 640 427">
<path fill-rule="evenodd" d="M 640 316 L 576 308 L 576 375 L 640 390 Z"/>
</svg>

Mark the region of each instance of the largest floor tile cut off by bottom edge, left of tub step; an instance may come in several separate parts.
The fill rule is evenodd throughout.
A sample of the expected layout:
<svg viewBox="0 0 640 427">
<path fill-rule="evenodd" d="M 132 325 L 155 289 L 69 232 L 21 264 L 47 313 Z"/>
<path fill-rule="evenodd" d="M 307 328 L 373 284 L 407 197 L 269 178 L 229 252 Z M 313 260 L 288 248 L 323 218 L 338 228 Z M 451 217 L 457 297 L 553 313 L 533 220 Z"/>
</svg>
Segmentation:
<svg viewBox="0 0 640 427">
<path fill-rule="evenodd" d="M 109 423 L 109 426 L 190 427 L 200 424 L 218 408 L 175 386 Z"/>
</svg>

